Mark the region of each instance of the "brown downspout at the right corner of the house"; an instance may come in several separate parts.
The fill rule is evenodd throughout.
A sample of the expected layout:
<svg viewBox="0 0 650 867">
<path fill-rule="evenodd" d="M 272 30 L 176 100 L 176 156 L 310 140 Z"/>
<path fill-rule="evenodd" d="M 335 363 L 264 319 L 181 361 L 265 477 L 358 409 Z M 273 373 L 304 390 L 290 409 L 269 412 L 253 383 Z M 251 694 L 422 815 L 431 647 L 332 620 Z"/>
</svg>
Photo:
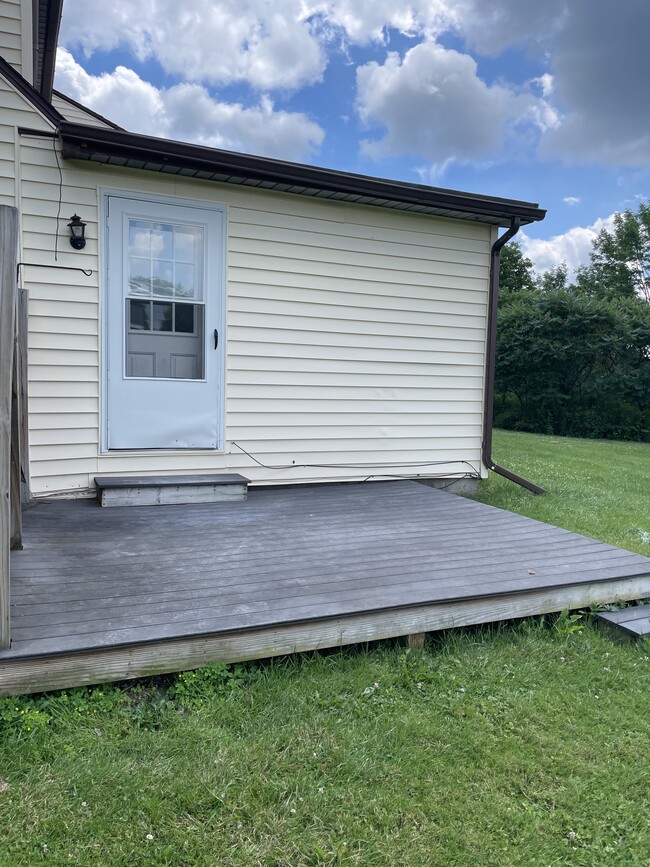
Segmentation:
<svg viewBox="0 0 650 867">
<path fill-rule="evenodd" d="M 500 238 L 492 245 L 490 251 L 490 284 L 488 292 L 488 328 L 487 328 L 487 349 L 485 355 L 485 394 L 484 394 L 484 412 L 483 412 L 483 463 L 492 470 L 493 473 L 498 473 L 511 482 L 521 485 L 522 488 L 528 488 L 534 494 L 545 494 L 544 488 L 529 482 L 527 479 L 518 476 L 516 473 L 500 467 L 492 459 L 492 422 L 494 418 L 494 371 L 496 367 L 496 350 L 497 350 L 497 313 L 499 309 L 499 265 L 501 261 L 501 248 L 508 243 L 511 238 L 519 231 L 521 219 L 513 217 L 510 222 L 510 228 L 501 235 Z"/>
</svg>

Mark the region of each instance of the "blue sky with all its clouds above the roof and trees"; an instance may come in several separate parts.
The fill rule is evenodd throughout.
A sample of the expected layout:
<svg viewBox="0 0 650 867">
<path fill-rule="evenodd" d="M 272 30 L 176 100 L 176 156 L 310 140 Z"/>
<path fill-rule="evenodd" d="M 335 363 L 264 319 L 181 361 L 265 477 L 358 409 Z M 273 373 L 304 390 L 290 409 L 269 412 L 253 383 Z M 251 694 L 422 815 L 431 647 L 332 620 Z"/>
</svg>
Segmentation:
<svg viewBox="0 0 650 867">
<path fill-rule="evenodd" d="M 648 0 L 65 0 L 55 87 L 132 132 L 537 202 L 542 272 L 650 185 Z"/>
</svg>

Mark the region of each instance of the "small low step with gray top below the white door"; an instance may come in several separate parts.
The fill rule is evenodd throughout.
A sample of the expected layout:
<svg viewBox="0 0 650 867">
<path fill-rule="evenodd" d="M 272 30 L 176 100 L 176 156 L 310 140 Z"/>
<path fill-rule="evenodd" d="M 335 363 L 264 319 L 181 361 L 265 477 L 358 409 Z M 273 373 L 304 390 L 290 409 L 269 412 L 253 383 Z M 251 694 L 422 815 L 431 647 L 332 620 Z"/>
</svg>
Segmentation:
<svg viewBox="0 0 650 867">
<path fill-rule="evenodd" d="M 188 476 L 95 476 L 102 506 L 165 506 L 245 500 L 249 479 L 239 473 Z"/>
</svg>

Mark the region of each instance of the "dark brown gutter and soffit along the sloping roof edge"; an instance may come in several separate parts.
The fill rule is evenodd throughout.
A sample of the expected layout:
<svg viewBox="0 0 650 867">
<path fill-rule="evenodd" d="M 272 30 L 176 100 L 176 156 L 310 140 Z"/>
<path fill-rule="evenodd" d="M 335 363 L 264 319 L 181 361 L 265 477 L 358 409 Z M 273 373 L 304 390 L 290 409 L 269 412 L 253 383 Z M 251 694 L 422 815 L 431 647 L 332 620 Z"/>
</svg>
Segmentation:
<svg viewBox="0 0 650 867">
<path fill-rule="evenodd" d="M 59 132 L 66 159 L 85 159 L 499 226 L 509 226 L 513 217 L 526 224 L 543 220 L 546 215 L 545 210 L 532 202 L 373 178 L 67 121 L 61 124 Z"/>
</svg>

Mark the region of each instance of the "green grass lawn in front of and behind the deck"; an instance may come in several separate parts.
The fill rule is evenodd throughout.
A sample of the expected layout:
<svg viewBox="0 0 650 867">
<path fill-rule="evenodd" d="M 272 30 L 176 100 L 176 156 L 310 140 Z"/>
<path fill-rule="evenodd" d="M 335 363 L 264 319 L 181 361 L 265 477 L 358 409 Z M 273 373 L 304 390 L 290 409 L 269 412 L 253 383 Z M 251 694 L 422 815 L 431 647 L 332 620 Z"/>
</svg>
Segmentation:
<svg viewBox="0 0 650 867">
<path fill-rule="evenodd" d="M 495 454 L 549 494 L 482 500 L 650 553 L 650 446 Z M 587 614 L 0 699 L 0 864 L 647 865 L 649 657 Z"/>
</svg>

